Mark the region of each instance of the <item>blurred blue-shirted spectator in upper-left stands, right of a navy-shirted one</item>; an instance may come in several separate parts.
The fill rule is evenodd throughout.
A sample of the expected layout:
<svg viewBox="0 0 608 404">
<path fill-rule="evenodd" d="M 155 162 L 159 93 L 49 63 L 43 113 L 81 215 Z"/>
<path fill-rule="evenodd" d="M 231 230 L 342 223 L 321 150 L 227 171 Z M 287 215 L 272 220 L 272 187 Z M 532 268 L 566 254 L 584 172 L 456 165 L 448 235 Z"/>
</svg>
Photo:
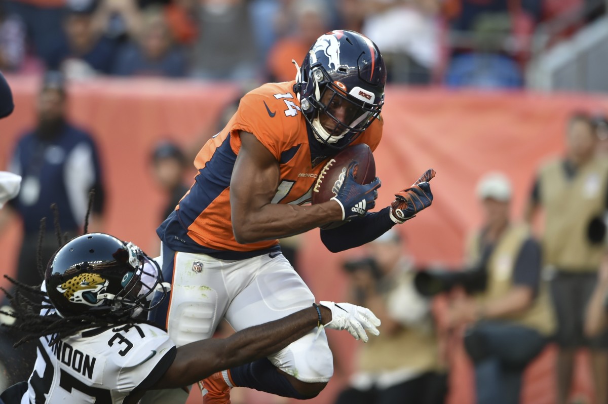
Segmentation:
<svg viewBox="0 0 608 404">
<path fill-rule="evenodd" d="M 174 46 L 161 7 L 150 6 L 143 11 L 138 40 L 120 50 L 112 74 L 184 77 L 186 67 L 185 53 Z"/>
</svg>

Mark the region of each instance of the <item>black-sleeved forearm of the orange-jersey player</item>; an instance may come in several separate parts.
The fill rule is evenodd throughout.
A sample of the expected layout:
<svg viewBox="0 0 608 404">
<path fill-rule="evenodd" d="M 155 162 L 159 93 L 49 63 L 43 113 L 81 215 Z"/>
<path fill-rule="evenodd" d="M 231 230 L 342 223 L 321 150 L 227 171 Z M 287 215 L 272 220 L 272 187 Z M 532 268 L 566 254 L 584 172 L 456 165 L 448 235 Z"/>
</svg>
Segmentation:
<svg viewBox="0 0 608 404">
<path fill-rule="evenodd" d="M 368 213 L 340 227 L 321 230 L 321 240 L 333 253 L 367 244 L 386 233 L 395 225 L 389 217 L 389 207 Z"/>
</svg>

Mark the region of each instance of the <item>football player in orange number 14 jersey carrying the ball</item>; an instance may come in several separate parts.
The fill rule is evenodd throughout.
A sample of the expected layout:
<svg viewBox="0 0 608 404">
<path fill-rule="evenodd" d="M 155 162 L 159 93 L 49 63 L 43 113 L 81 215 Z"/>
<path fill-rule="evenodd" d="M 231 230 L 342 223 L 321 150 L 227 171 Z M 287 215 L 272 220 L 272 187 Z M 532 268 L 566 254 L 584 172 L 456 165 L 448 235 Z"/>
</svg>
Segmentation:
<svg viewBox="0 0 608 404">
<path fill-rule="evenodd" d="M 278 238 L 344 221 L 321 231 L 326 247 L 337 252 L 377 238 L 431 204 L 425 181 L 367 213 L 380 180 L 359 185 L 351 166 L 335 197 L 303 206 L 330 157 L 348 145 L 378 146 L 385 82 L 382 55 L 370 39 L 346 30 L 326 33 L 295 81 L 246 94 L 226 128 L 201 149 L 194 185 L 157 229 L 172 290 L 153 318 L 178 346 L 211 338 L 223 318 L 238 331 L 313 304 Z M 307 399 L 332 374 L 325 333 L 311 330 L 267 359 L 205 379 L 203 401 L 229 403 L 232 386 Z M 166 394 L 150 402 L 178 402 Z"/>
</svg>

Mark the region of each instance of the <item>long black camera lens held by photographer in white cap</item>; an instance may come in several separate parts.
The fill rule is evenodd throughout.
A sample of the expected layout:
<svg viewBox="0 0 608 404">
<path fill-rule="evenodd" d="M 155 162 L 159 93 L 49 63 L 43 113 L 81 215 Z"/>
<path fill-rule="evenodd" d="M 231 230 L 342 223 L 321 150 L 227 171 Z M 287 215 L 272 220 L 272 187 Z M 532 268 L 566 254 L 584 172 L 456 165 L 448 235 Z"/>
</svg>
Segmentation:
<svg viewBox="0 0 608 404">
<path fill-rule="evenodd" d="M 423 296 L 435 296 L 448 292 L 455 286 L 461 286 L 469 295 L 483 292 L 488 282 L 488 272 L 485 267 L 460 269 L 426 269 L 418 272 L 414 278 L 414 286 Z"/>
</svg>

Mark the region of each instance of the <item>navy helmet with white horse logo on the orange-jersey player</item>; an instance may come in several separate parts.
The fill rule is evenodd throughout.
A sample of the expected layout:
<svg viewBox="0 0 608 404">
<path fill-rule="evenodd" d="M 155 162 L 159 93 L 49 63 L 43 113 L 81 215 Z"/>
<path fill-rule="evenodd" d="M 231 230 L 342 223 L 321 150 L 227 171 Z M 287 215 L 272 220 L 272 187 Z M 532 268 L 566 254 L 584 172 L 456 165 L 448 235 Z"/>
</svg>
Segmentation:
<svg viewBox="0 0 608 404">
<path fill-rule="evenodd" d="M 343 149 L 378 118 L 386 67 L 369 38 L 336 30 L 317 39 L 295 81 L 294 91 L 314 137 Z"/>
</svg>

